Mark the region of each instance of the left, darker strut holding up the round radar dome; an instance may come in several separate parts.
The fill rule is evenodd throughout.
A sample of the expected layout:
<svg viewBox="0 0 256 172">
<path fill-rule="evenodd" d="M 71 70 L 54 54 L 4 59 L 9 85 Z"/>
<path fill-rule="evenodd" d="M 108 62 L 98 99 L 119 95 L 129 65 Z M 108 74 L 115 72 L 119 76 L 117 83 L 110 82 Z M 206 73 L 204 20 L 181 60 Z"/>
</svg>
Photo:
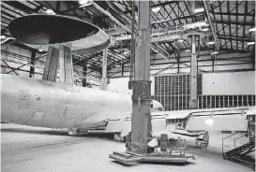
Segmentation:
<svg viewBox="0 0 256 172">
<path fill-rule="evenodd" d="M 58 70 L 58 61 L 59 61 L 59 50 L 52 46 L 49 46 L 42 79 L 51 80 L 51 81 L 56 80 L 57 70 Z"/>
</svg>

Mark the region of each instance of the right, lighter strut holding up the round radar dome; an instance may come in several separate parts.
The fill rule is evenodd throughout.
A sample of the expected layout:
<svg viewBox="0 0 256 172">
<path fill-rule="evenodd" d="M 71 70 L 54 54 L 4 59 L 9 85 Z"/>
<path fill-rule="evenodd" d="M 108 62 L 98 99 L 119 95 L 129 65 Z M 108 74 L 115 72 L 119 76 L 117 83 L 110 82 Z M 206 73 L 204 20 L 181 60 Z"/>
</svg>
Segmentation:
<svg viewBox="0 0 256 172">
<path fill-rule="evenodd" d="M 59 45 L 60 81 L 73 84 L 73 65 L 71 50 Z"/>
</svg>

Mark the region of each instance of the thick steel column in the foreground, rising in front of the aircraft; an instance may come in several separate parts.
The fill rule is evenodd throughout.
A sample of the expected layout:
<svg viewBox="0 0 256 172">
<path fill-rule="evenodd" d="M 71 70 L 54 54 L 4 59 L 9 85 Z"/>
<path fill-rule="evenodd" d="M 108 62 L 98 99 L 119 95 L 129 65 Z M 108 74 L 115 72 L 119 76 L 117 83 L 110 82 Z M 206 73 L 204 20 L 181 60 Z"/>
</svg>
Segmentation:
<svg viewBox="0 0 256 172">
<path fill-rule="evenodd" d="M 144 153 L 151 136 L 150 82 L 150 6 L 139 1 L 139 24 L 135 51 L 135 76 L 132 94 L 131 151 Z"/>
</svg>

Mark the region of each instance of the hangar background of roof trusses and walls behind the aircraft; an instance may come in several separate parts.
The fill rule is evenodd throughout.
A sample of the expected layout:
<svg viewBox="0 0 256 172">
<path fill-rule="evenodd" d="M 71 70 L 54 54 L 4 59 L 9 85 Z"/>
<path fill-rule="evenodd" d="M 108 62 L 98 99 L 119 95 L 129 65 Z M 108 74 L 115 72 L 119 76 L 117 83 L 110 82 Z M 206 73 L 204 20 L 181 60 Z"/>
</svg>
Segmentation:
<svg viewBox="0 0 256 172">
<path fill-rule="evenodd" d="M 189 1 L 152 1 L 151 95 L 166 110 L 188 109 L 191 41 L 179 39 L 188 23 L 211 19 L 214 31 L 200 37 L 198 51 L 198 108 L 255 105 L 255 5 L 253 1 L 207 1 L 207 11 L 192 15 Z M 91 22 L 113 38 L 108 48 L 107 90 L 129 93 L 131 2 L 102 1 L 82 7 L 76 1 L 3 1 L 1 3 L 1 72 L 42 79 L 45 51 L 25 47 L 9 37 L 8 22 L 27 14 L 55 13 Z M 198 5 L 200 6 L 200 4 Z M 155 12 L 154 12 L 155 11 Z M 137 15 L 137 12 L 136 12 Z M 138 18 L 135 17 L 135 20 Z M 135 27 L 138 21 L 134 21 Z M 193 27 L 193 26 L 192 26 Z M 195 27 L 198 27 L 195 24 Z M 209 27 L 209 26 L 203 26 Z M 202 32 L 203 28 L 199 28 Z M 168 31 L 172 31 L 168 34 Z M 175 32 L 175 33 L 174 33 Z M 158 34 L 158 35 L 157 35 Z M 182 34 L 181 34 L 182 35 Z M 160 38 L 158 38 L 160 37 Z M 215 43 L 213 43 L 216 40 Z M 216 46 L 215 46 L 216 45 Z M 216 47 L 218 46 L 218 50 Z M 213 54 L 213 52 L 218 54 Z M 73 56 L 74 83 L 98 89 L 102 75 L 99 51 Z M 33 60 L 33 59 L 37 60 Z M 34 70 L 30 70 L 34 67 Z M 132 74 L 131 74 L 132 75 Z M 245 89 L 245 87 L 248 87 Z"/>
</svg>

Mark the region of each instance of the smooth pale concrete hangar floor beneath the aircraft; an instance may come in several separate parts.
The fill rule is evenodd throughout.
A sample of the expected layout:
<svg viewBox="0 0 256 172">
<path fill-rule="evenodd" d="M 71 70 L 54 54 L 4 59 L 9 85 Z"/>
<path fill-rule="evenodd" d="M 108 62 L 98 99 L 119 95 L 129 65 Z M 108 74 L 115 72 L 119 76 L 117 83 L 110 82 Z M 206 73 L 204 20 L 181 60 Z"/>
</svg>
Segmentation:
<svg viewBox="0 0 256 172">
<path fill-rule="evenodd" d="M 195 148 L 193 140 L 188 140 L 188 153 L 197 156 L 194 164 L 139 164 L 128 167 L 119 165 L 108 157 L 113 150 L 124 151 L 124 143 L 99 136 L 68 136 L 67 131 L 1 123 L 1 169 L 3 172 L 252 171 L 247 166 L 224 161 L 221 155 L 221 140 L 214 139 L 213 136 L 210 139 L 212 143 L 210 142 L 207 150 Z"/>
</svg>

